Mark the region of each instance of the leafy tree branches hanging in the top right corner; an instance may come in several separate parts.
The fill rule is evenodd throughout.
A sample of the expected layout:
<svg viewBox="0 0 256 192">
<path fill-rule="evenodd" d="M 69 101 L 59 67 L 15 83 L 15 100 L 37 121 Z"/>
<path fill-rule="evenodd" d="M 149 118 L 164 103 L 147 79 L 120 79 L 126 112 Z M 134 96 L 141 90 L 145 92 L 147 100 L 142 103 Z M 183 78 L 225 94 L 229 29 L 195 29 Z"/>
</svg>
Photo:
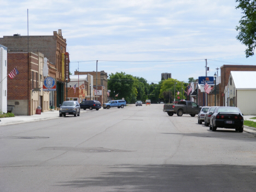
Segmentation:
<svg viewBox="0 0 256 192">
<path fill-rule="evenodd" d="M 239 21 L 240 26 L 236 26 L 236 31 L 239 31 L 236 38 L 247 46 L 245 51 L 246 57 L 254 55 L 256 46 L 256 1 L 255 0 L 236 0 L 239 2 L 236 9 L 241 9 L 242 16 Z"/>
</svg>

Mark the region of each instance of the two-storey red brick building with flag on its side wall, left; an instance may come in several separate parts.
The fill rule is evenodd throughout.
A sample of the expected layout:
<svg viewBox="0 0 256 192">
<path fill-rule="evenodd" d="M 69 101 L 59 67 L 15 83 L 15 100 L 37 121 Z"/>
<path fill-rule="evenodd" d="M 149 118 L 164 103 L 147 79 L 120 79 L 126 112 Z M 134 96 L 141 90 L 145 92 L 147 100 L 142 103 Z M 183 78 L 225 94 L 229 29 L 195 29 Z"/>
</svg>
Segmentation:
<svg viewBox="0 0 256 192">
<path fill-rule="evenodd" d="M 19 71 L 13 79 L 7 77 L 7 104 L 15 106 L 13 109 L 15 115 L 36 114 L 38 106 L 42 108 L 42 112 L 49 110 L 49 91 L 42 90 L 43 60 L 42 53 L 7 54 L 8 74 L 15 67 Z"/>
</svg>

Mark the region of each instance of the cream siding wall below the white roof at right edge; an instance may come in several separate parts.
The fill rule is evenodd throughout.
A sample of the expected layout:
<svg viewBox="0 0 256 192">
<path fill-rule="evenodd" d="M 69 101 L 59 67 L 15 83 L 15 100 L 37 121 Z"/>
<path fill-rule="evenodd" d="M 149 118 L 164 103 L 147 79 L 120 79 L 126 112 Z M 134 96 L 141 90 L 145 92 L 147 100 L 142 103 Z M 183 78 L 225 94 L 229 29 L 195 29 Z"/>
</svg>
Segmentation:
<svg viewBox="0 0 256 192">
<path fill-rule="evenodd" d="M 237 107 L 244 115 L 256 115 L 256 90 L 237 90 Z"/>
</svg>

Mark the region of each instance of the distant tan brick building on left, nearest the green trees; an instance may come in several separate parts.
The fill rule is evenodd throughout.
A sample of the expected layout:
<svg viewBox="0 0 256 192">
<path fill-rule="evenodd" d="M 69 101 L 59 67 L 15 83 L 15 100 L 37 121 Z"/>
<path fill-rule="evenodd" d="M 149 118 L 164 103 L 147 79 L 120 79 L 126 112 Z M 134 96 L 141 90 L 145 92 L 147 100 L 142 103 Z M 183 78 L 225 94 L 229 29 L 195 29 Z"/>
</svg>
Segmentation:
<svg viewBox="0 0 256 192">
<path fill-rule="evenodd" d="M 97 90 L 101 90 L 102 91 L 102 95 L 99 95 L 99 101 L 102 103 L 106 103 L 107 102 L 107 91 L 108 91 L 108 74 L 105 73 L 104 71 L 101 72 L 78 72 L 75 71 L 74 72 L 75 75 L 83 75 L 83 74 L 90 74 L 94 77 L 94 89 L 96 89 L 96 85 L 97 85 Z M 97 74 L 97 75 L 96 75 Z M 97 79 L 97 82 L 96 82 Z M 104 99 L 104 101 L 103 101 Z M 97 97 L 96 97 L 97 100 Z"/>
</svg>

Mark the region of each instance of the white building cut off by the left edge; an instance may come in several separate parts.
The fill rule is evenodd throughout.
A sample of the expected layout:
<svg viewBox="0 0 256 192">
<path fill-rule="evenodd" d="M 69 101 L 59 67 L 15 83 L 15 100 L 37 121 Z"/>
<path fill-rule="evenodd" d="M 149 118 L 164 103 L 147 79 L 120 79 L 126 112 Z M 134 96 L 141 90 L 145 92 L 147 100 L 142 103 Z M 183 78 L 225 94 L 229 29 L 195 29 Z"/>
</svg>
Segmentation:
<svg viewBox="0 0 256 192">
<path fill-rule="evenodd" d="M 7 113 L 7 47 L 3 45 L 0 45 L 0 82 L 0 110 Z"/>
</svg>

